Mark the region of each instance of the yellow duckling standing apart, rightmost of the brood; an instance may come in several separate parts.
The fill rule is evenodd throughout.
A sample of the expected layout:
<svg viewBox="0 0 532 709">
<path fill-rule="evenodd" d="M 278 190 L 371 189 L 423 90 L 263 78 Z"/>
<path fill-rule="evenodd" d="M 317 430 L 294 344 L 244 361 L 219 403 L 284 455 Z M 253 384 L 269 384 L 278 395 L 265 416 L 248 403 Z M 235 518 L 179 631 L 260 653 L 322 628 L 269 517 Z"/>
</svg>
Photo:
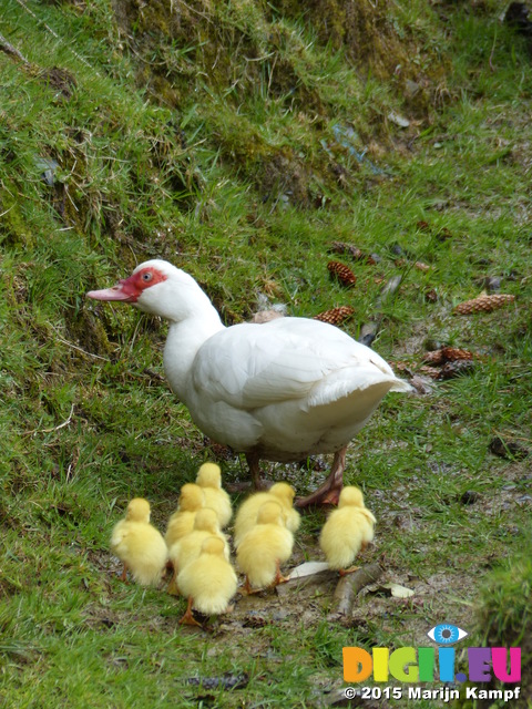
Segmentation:
<svg viewBox="0 0 532 709">
<path fill-rule="evenodd" d="M 357 554 L 372 541 L 375 523 L 375 516 L 364 505 L 361 491 L 354 485 L 344 487 L 338 508 L 330 513 L 319 535 L 330 568 L 346 573 Z"/>
</svg>

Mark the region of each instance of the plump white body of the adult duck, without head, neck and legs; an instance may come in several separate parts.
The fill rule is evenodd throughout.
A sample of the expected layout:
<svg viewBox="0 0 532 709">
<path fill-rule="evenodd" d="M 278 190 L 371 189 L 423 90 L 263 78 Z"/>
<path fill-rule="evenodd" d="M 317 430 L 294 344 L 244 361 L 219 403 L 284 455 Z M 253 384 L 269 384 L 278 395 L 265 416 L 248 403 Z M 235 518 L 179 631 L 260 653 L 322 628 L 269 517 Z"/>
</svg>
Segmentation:
<svg viewBox="0 0 532 709">
<path fill-rule="evenodd" d="M 174 345 L 167 348 L 170 360 Z M 186 381 L 184 401 L 205 433 L 238 451 L 257 446 L 272 460 L 335 452 L 390 389 L 410 390 L 376 352 L 306 318 L 217 331 L 201 345 Z"/>
</svg>

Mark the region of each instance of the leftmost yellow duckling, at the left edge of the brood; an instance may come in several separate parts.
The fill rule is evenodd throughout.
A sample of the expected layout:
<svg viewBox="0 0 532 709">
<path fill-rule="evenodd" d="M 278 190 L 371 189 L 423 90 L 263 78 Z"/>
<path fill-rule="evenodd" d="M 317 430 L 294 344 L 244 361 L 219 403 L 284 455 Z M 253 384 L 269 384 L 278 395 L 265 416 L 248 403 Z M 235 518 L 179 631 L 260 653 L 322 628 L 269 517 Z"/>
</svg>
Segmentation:
<svg viewBox="0 0 532 709">
<path fill-rule="evenodd" d="M 168 558 L 162 534 L 150 524 L 150 503 L 135 497 L 127 505 L 125 517 L 113 528 L 111 549 L 124 564 L 122 580 L 127 569 L 142 586 L 156 586 L 161 582 Z"/>
</svg>

